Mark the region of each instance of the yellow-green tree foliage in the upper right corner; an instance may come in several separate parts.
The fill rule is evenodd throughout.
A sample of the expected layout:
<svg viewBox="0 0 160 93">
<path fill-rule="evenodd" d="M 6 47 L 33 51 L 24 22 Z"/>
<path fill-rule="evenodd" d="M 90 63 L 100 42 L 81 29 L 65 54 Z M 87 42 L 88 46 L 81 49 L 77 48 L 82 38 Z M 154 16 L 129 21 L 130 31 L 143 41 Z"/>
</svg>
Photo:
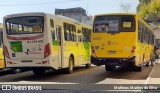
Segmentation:
<svg viewBox="0 0 160 93">
<path fill-rule="evenodd" d="M 158 24 L 160 19 L 160 0 L 139 0 L 137 7 L 139 16 L 149 22 Z"/>
</svg>

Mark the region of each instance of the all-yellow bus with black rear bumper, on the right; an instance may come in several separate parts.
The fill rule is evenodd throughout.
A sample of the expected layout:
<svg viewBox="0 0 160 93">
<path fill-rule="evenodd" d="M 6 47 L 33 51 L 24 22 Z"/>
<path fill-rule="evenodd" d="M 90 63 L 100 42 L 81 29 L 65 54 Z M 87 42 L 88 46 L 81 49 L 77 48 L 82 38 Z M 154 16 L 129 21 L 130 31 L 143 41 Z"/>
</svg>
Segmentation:
<svg viewBox="0 0 160 93">
<path fill-rule="evenodd" d="M 105 65 L 106 71 L 116 66 L 141 71 L 153 59 L 154 34 L 137 14 L 111 13 L 96 15 L 91 33 L 91 62 Z"/>
</svg>

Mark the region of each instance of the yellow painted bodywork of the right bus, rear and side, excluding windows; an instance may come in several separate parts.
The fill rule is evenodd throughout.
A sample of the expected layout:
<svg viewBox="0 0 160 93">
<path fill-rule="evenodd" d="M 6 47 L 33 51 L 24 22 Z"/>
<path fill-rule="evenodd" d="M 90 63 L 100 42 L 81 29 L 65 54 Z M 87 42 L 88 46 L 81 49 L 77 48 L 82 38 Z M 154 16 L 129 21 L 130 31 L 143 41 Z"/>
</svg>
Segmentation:
<svg viewBox="0 0 160 93">
<path fill-rule="evenodd" d="M 98 47 L 95 49 L 95 53 L 91 55 L 97 56 L 97 58 L 132 58 L 137 57 L 135 65 L 141 65 L 142 61 L 148 62 L 153 56 L 154 45 L 141 43 L 138 41 L 138 21 L 141 21 L 147 28 L 153 31 L 147 23 L 139 19 L 136 14 L 130 13 L 112 13 L 102 14 L 96 16 L 107 15 L 133 15 L 136 22 L 135 32 L 120 32 L 114 35 L 110 33 L 92 33 L 91 46 Z M 123 22 L 123 27 L 131 27 L 131 22 Z M 152 32 L 151 32 L 152 33 Z M 134 53 L 131 50 L 134 49 Z"/>
</svg>

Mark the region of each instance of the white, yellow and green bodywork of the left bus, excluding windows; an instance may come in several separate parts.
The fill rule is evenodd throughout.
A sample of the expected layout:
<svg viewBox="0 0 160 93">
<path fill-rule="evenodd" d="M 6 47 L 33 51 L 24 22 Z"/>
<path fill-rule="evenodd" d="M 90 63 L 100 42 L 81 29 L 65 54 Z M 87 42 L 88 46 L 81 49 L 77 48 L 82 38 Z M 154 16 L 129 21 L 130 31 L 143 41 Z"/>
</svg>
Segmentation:
<svg viewBox="0 0 160 93">
<path fill-rule="evenodd" d="M 86 26 L 85 24 L 81 24 L 70 18 L 57 16 L 57 15 L 50 15 L 45 13 L 13 14 L 13 15 L 6 16 L 4 18 L 4 23 L 6 23 L 7 20 L 10 18 L 12 19 L 12 18 L 18 18 L 18 17 L 22 17 L 22 18 L 32 17 L 31 19 L 34 19 L 34 17 L 37 17 L 37 16 L 44 17 L 44 23 L 43 23 L 44 26 L 42 28 L 43 31 L 41 33 L 38 32 L 34 34 L 24 33 L 24 35 L 23 34 L 10 35 L 8 34 L 7 29 L 5 29 L 4 47 L 6 51 L 5 52 L 6 67 L 11 67 L 11 68 L 44 67 L 44 68 L 53 68 L 53 69 L 68 68 L 70 57 L 74 58 L 74 66 L 79 66 L 86 63 L 90 64 L 90 53 L 89 53 L 90 43 L 88 43 L 88 41 L 84 43 L 83 40 L 79 42 L 77 31 L 78 29 L 81 30 L 82 27 L 91 29 L 91 26 Z M 13 20 L 8 21 L 8 23 L 4 25 L 4 28 L 7 28 L 6 25 L 10 25 L 11 22 L 14 22 L 14 21 Z M 25 23 L 25 22 L 22 22 L 22 23 Z M 76 26 L 76 32 L 74 32 L 74 35 L 76 36 L 77 39 L 74 42 L 71 40 L 70 41 L 65 40 L 66 34 L 64 33 L 65 32 L 64 23 L 68 23 L 70 25 Z M 31 25 L 28 24 L 27 26 L 31 26 Z M 22 28 L 23 28 L 23 25 L 22 25 Z M 41 37 L 37 38 L 37 35 Z M 36 39 L 9 40 L 9 38 L 7 38 L 8 36 L 16 37 L 16 38 L 20 37 L 20 39 L 21 37 L 23 39 L 26 39 L 27 37 L 28 39 L 28 37 L 30 36 L 35 36 Z M 81 37 L 83 38 L 82 35 Z M 11 45 L 10 42 L 13 42 L 13 45 Z M 10 48 L 11 46 L 13 47 L 12 49 Z M 21 47 L 19 48 L 19 46 Z M 41 50 L 39 50 L 40 52 L 35 53 L 34 55 L 34 53 L 32 53 L 33 50 L 34 51 L 38 50 L 39 47 L 41 48 Z M 18 53 L 15 51 L 18 51 Z"/>
</svg>

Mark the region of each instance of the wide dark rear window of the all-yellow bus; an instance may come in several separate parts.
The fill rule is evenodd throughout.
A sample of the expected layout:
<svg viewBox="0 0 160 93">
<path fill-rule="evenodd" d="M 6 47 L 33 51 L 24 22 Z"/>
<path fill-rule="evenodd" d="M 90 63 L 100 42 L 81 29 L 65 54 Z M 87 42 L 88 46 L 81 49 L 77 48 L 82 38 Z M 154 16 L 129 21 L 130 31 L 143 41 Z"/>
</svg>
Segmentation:
<svg viewBox="0 0 160 93">
<path fill-rule="evenodd" d="M 134 32 L 135 18 L 132 15 L 97 16 L 93 25 L 93 32 Z"/>
</svg>

